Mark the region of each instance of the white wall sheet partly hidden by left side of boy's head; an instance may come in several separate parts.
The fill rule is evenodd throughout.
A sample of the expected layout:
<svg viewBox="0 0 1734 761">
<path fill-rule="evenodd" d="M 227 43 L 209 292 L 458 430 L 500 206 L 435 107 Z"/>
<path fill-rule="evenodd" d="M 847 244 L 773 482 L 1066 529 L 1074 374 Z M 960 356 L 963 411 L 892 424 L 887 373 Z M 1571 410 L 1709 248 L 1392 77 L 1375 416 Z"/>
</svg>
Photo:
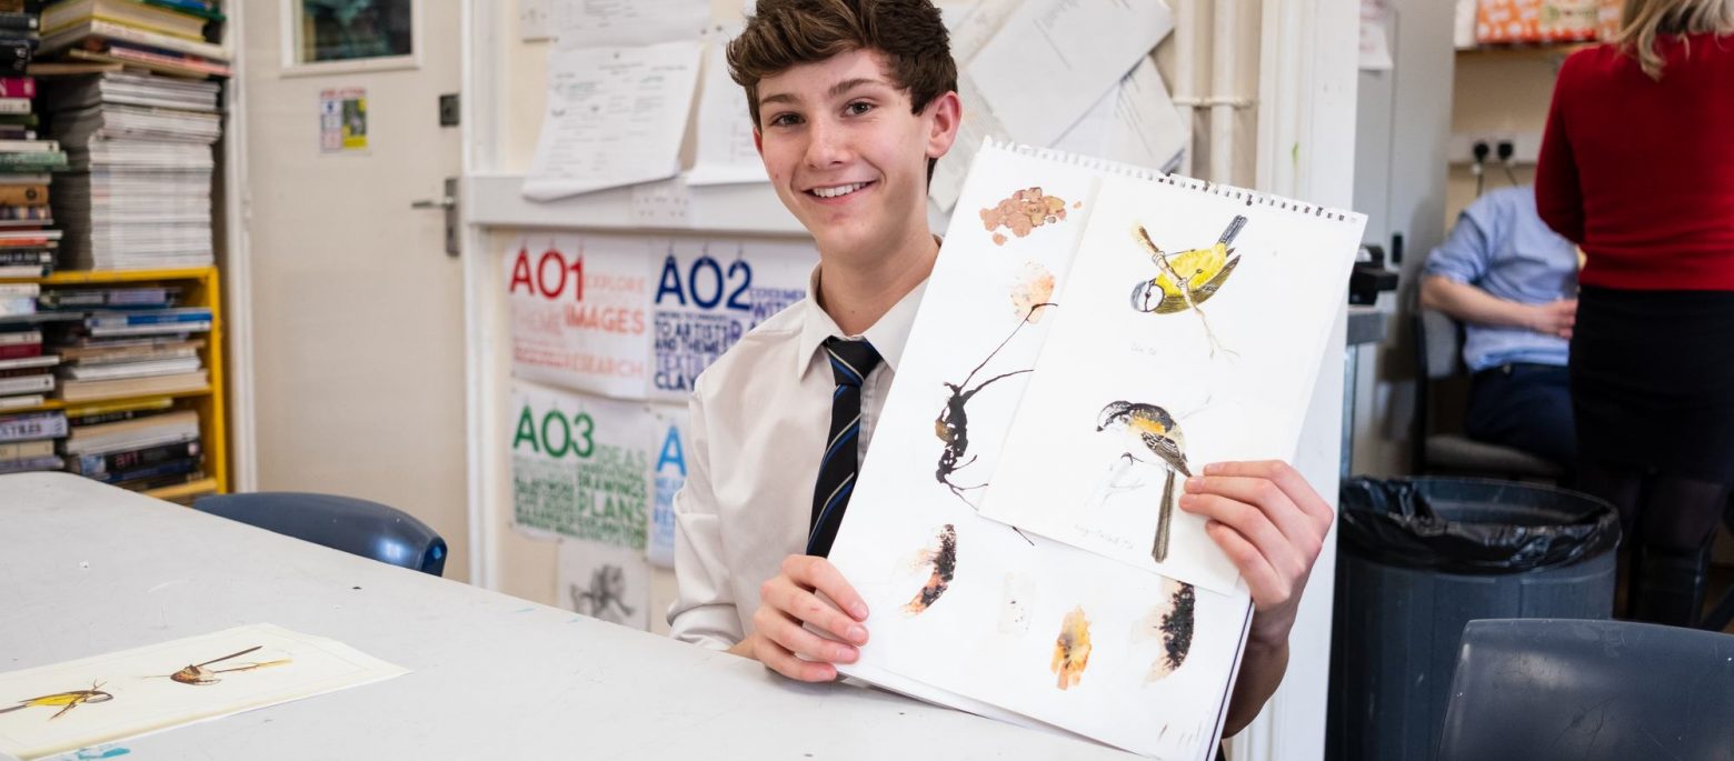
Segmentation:
<svg viewBox="0 0 1734 761">
<path fill-rule="evenodd" d="M 753 116 L 747 94 L 728 78 L 725 52 L 739 31 L 713 35 L 704 54 L 704 83 L 699 87 L 695 158 L 687 170 L 688 185 L 723 185 L 733 182 L 770 182 L 765 161 L 753 142 Z"/>
</svg>

